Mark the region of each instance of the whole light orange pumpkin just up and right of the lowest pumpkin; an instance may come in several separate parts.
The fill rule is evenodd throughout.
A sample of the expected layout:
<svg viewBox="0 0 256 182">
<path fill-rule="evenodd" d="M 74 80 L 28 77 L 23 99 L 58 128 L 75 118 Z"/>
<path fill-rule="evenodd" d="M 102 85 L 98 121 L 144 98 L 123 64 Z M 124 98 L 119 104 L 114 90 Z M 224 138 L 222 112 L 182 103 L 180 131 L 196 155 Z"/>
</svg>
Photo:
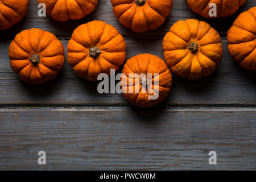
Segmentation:
<svg viewBox="0 0 256 182">
<path fill-rule="evenodd" d="M 189 80 L 210 75 L 223 55 L 218 32 L 196 19 L 176 22 L 164 36 L 163 50 L 172 72 Z"/>
</svg>

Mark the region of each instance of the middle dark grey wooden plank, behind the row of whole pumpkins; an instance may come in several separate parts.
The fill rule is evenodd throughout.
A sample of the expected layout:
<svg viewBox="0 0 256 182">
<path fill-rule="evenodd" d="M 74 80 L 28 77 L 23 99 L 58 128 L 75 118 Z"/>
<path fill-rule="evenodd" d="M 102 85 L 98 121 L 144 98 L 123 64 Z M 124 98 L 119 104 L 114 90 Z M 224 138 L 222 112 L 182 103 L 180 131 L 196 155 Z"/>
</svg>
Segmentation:
<svg viewBox="0 0 256 182">
<path fill-rule="evenodd" d="M 62 40 L 67 48 L 68 40 Z M 240 68 L 224 43 L 224 57 L 216 72 L 197 81 L 174 75 L 170 96 L 162 105 L 256 105 L 256 74 Z M 122 105 L 121 94 L 98 94 L 97 82 L 82 80 L 73 73 L 67 60 L 63 72 L 44 85 L 29 85 L 11 71 L 7 55 L 10 40 L 0 44 L 0 104 L 2 105 Z M 136 50 L 136 51 L 135 51 Z M 127 59 L 150 52 L 163 58 L 162 40 L 127 41 Z M 65 51 L 67 55 L 67 49 Z M 66 56 L 67 57 L 67 56 Z M 122 67 L 119 69 L 119 72 Z"/>
</svg>

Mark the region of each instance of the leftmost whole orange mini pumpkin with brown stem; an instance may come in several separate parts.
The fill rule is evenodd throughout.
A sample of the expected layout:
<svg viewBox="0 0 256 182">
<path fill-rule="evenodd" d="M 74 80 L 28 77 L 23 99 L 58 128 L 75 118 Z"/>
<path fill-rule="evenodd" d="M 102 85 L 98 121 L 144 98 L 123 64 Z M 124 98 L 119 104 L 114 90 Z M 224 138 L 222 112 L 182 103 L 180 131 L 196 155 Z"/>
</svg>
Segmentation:
<svg viewBox="0 0 256 182">
<path fill-rule="evenodd" d="M 50 32 L 32 28 L 15 36 L 9 48 L 11 68 L 21 80 L 43 84 L 55 78 L 64 65 L 64 47 Z"/>
</svg>

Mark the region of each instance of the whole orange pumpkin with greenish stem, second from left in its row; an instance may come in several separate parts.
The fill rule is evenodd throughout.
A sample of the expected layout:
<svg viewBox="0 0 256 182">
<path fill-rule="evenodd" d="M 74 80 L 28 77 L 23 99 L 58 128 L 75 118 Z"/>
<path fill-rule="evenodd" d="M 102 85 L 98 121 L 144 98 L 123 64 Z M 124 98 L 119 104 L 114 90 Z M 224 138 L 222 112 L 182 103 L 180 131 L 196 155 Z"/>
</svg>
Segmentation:
<svg viewBox="0 0 256 182">
<path fill-rule="evenodd" d="M 100 73 L 110 75 L 126 58 L 126 43 L 117 29 L 95 20 L 77 27 L 68 43 L 68 63 L 73 71 L 90 81 Z"/>
</svg>

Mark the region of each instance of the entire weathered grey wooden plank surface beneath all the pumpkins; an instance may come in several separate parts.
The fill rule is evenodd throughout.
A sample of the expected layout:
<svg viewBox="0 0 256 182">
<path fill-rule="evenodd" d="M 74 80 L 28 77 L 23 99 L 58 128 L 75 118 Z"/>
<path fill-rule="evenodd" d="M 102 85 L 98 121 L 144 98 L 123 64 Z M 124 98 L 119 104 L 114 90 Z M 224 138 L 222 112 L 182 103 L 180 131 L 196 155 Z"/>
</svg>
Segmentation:
<svg viewBox="0 0 256 182">
<path fill-rule="evenodd" d="M 208 20 L 185 0 L 174 0 L 166 22 L 136 34 L 115 18 L 110 0 L 81 20 L 39 18 L 30 0 L 22 22 L 0 32 L 0 169 L 256 169 L 256 72 L 238 67 L 229 56 L 226 32 L 247 0 L 228 18 Z M 189 81 L 174 76 L 170 96 L 150 109 L 130 105 L 121 94 L 98 94 L 97 82 L 82 80 L 67 60 L 60 75 L 44 85 L 19 80 L 8 49 L 18 32 L 42 28 L 67 43 L 73 30 L 91 20 L 112 24 L 127 43 L 127 59 L 152 53 L 163 59 L 162 40 L 177 20 L 197 18 L 216 28 L 224 56 L 211 76 Z M 119 69 L 119 72 L 122 67 Z M 38 151 L 47 165 L 38 165 Z M 208 152 L 217 152 L 210 166 Z"/>
</svg>

